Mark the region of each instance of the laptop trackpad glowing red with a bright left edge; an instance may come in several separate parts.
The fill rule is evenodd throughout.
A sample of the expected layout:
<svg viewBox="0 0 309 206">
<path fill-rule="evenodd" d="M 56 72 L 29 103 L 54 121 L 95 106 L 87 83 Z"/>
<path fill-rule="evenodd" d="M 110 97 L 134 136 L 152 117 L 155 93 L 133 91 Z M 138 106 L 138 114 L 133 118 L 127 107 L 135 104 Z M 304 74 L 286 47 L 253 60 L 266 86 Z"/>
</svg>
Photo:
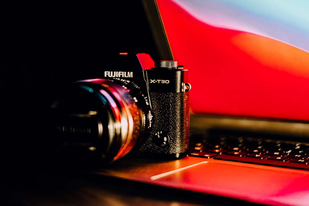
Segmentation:
<svg viewBox="0 0 309 206">
<path fill-rule="evenodd" d="M 178 188 L 234 198 L 282 199 L 282 196 L 298 193 L 291 201 L 295 201 L 299 195 L 309 201 L 309 186 L 305 184 L 309 182 L 307 172 L 265 168 L 200 162 L 152 176 L 151 179 L 163 185 L 175 185 Z"/>
</svg>

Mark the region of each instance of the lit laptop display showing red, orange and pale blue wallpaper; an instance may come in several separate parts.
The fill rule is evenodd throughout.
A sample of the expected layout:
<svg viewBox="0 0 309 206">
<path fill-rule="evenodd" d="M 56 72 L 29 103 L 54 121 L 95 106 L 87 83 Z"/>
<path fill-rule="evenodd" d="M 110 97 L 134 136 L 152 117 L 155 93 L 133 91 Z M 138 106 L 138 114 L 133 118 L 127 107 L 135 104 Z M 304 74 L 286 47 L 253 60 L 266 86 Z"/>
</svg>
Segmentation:
<svg viewBox="0 0 309 206">
<path fill-rule="evenodd" d="M 309 120 L 309 1 L 157 4 L 194 113 Z"/>
</svg>

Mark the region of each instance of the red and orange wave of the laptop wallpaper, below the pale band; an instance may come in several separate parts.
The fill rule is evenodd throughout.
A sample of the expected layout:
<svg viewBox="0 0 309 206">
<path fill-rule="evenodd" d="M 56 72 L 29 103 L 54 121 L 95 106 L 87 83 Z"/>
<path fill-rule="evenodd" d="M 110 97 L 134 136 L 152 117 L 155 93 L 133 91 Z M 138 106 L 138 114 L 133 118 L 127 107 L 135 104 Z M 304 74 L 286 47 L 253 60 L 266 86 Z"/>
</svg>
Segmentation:
<svg viewBox="0 0 309 206">
<path fill-rule="evenodd" d="M 174 60 L 189 71 L 194 113 L 309 120 L 309 53 L 157 3 Z"/>
</svg>

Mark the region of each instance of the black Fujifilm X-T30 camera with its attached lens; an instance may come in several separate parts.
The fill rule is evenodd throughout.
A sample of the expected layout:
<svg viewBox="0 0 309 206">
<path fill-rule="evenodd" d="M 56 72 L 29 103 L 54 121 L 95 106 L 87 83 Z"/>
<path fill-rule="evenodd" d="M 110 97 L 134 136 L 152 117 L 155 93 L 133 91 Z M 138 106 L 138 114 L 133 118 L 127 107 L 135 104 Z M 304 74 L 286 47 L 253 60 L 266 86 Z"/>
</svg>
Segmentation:
<svg viewBox="0 0 309 206">
<path fill-rule="evenodd" d="M 61 155 L 111 163 L 130 151 L 182 158 L 189 145 L 188 70 L 119 53 L 100 78 L 73 82 L 47 112 Z"/>
</svg>

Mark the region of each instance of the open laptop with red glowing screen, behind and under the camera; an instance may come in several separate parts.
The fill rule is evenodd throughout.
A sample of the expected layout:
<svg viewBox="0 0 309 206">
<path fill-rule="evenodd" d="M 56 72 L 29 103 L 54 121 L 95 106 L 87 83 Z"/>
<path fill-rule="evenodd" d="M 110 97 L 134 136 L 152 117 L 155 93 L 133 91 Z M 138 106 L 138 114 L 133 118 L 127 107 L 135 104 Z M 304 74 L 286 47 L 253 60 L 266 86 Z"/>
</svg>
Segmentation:
<svg viewBox="0 0 309 206">
<path fill-rule="evenodd" d="M 100 176 L 265 205 L 309 205 L 305 1 L 143 1 L 161 59 L 189 71 L 190 149 Z"/>
</svg>

